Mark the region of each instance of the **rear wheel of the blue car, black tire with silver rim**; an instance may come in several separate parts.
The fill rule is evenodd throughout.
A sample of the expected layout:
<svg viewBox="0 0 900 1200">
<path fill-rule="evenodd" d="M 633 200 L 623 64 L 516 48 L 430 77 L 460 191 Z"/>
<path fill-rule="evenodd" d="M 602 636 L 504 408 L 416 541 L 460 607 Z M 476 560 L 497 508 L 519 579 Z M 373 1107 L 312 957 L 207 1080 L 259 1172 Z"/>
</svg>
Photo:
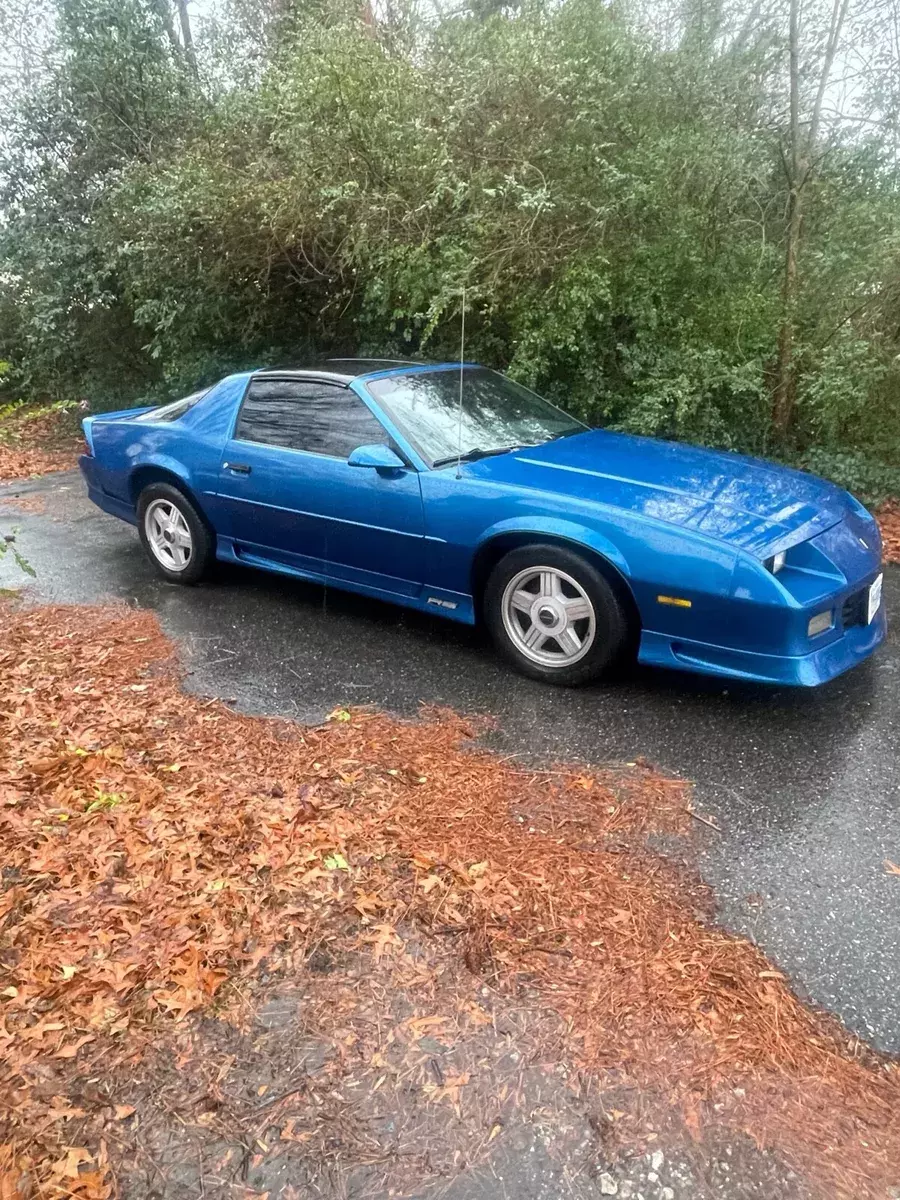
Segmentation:
<svg viewBox="0 0 900 1200">
<path fill-rule="evenodd" d="M 198 583 L 215 557 L 212 532 L 172 484 L 150 484 L 140 493 L 138 532 L 148 558 L 170 583 Z"/>
</svg>

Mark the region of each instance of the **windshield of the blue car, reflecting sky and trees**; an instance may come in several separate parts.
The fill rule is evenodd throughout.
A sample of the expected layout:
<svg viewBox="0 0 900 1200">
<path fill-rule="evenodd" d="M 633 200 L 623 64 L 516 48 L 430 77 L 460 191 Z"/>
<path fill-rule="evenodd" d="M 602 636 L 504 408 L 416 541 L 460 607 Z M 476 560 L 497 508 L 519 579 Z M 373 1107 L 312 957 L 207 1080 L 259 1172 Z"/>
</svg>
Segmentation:
<svg viewBox="0 0 900 1200">
<path fill-rule="evenodd" d="M 366 386 L 432 467 L 540 445 L 587 426 L 485 367 L 386 376 Z"/>
</svg>

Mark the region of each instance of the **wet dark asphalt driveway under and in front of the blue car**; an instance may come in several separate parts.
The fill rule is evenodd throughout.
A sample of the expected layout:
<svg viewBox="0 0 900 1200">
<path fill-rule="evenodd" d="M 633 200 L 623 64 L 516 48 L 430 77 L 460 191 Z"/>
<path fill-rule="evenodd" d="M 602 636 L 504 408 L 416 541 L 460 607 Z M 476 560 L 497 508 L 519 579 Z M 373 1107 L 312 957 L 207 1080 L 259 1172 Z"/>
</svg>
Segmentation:
<svg viewBox="0 0 900 1200">
<path fill-rule="evenodd" d="M 44 512 L 6 506 L 14 496 Z M 437 617 L 240 568 L 168 584 L 77 474 L 0 487 L 0 532 L 12 527 L 42 600 L 155 610 L 188 685 L 246 712 L 317 721 L 348 702 L 404 715 L 446 704 L 492 714 L 491 744 L 523 762 L 643 756 L 694 780 L 696 809 L 720 829 L 700 830 L 700 866 L 722 924 L 900 1054 L 900 876 L 886 869 L 900 864 L 899 568 L 886 571 L 887 646 L 815 691 L 644 668 L 566 691 L 511 673 L 479 631 Z M 23 582 L 6 556 L 0 587 Z"/>
</svg>

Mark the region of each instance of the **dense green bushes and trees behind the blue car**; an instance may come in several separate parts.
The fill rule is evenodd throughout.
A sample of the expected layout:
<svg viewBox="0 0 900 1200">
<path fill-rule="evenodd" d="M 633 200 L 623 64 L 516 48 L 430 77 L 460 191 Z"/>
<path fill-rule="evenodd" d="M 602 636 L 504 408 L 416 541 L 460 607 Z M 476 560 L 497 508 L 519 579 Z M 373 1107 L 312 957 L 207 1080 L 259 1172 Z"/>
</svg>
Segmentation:
<svg viewBox="0 0 900 1200">
<path fill-rule="evenodd" d="M 7 396 L 455 355 L 464 287 L 467 356 L 578 414 L 900 491 L 892 2 L 232 0 L 192 40 L 169 2 L 31 6 L 41 66 L 2 94 Z"/>
</svg>

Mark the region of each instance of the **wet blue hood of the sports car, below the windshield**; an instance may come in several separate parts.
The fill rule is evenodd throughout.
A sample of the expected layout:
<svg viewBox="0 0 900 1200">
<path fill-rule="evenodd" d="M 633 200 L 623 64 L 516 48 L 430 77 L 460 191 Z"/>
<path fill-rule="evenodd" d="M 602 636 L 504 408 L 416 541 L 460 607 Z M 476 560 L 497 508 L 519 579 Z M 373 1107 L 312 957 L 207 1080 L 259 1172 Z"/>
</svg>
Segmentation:
<svg viewBox="0 0 900 1200">
<path fill-rule="evenodd" d="M 604 430 L 484 458 L 472 473 L 695 529 L 758 557 L 814 538 L 848 508 L 845 492 L 804 472 Z"/>
</svg>

